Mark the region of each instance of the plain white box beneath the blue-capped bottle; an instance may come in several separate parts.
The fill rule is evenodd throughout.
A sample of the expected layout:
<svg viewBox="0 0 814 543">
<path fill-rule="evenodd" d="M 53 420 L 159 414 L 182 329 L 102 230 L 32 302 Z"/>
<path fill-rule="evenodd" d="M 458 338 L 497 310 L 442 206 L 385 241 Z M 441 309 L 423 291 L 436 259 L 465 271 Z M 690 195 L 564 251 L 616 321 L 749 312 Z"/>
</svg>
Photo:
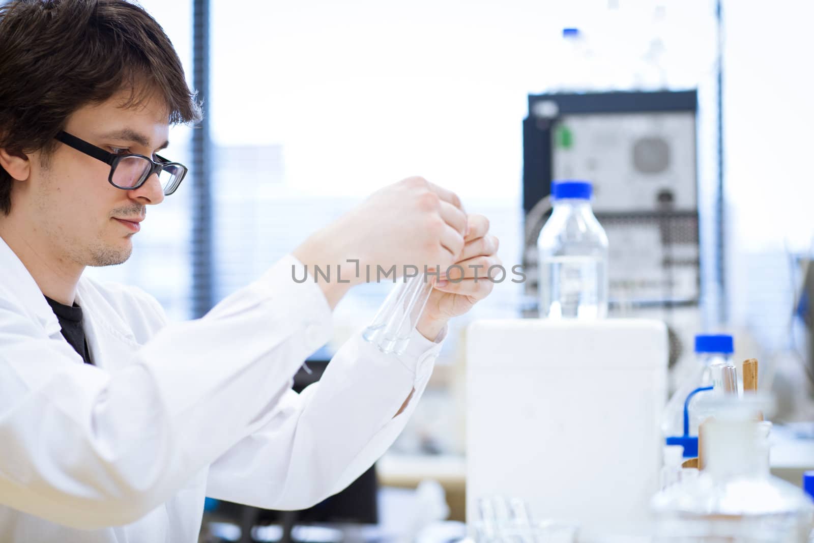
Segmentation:
<svg viewBox="0 0 814 543">
<path fill-rule="evenodd" d="M 495 496 L 584 528 L 646 519 L 667 401 L 663 322 L 484 320 L 466 338 L 467 523 Z"/>
</svg>

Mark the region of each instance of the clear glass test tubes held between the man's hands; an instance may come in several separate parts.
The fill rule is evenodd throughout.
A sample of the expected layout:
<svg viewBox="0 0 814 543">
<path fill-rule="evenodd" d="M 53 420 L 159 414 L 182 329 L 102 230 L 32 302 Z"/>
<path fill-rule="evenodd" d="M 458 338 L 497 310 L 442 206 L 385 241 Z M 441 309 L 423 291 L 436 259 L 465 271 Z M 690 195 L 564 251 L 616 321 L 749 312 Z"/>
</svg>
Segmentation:
<svg viewBox="0 0 814 543">
<path fill-rule="evenodd" d="M 424 306 L 430 298 L 433 282 L 418 275 L 398 284 L 384 300 L 379 313 L 362 332 L 366 341 L 375 344 L 382 353 L 405 352 Z"/>
</svg>

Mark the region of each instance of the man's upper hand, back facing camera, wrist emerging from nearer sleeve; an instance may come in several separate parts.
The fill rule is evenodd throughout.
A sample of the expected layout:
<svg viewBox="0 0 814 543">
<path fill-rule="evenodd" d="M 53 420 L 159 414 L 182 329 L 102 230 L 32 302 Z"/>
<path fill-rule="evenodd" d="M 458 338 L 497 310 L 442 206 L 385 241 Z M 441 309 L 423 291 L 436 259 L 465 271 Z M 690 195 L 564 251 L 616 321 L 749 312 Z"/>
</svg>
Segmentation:
<svg viewBox="0 0 814 543">
<path fill-rule="evenodd" d="M 342 266 L 342 279 L 348 283 L 318 282 L 333 308 L 350 287 L 365 282 L 367 266 L 371 279 L 377 276 L 377 266 L 385 272 L 395 266 L 397 277 L 405 265 L 416 266 L 419 273 L 425 265 L 447 269 L 462 252 L 465 233 L 466 213 L 457 195 L 422 177 L 408 177 L 374 192 L 293 254 L 308 265 L 312 277 L 314 265 L 323 270 L 330 266 L 332 278 Z"/>
</svg>

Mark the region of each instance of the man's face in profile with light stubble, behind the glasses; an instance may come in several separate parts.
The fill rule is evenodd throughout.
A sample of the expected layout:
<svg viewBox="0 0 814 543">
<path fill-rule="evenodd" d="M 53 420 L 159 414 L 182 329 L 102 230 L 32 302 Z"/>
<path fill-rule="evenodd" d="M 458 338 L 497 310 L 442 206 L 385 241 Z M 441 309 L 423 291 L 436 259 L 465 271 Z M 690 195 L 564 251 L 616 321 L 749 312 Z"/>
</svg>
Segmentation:
<svg viewBox="0 0 814 543">
<path fill-rule="evenodd" d="M 129 97 L 125 90 L 104 103 L 82 107 L 68 118 L 65 132 L 114 154 L 155 159 L 167 144 L 166 104 L 152 96 L 138 107 L 121 107 Z M 108 164 L 62 143 L 48 158 L 29 156 L 28 184 L 20 198 L 12 199 L 12 211 L 22 204 L 33 219 L 29 235 L 36 235 L 65 265 L 126 261 L 140 227 L 133 221 L 145 217 L 147 205 L 164 200 L 158 177 L 152 175 L 136 190 L 121 190 L 107 182 Z"/>
</svg>

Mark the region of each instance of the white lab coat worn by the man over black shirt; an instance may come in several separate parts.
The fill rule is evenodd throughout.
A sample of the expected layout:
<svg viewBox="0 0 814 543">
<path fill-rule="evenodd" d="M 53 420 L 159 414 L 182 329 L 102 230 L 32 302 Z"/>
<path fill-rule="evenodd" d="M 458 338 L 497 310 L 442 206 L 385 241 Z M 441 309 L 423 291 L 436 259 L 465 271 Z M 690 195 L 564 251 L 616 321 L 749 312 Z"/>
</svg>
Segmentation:
<svg viewBox="0 0 814 543">
<path fill-rule="evenodd" d="M 299 509 L 370 467 L 441 339 L 416 332 L 396 357 L 357 335 L 298 395 L 331 313 L 292 265 L 303 277 L 287 256 L 177 324 L 143 291 L 81 278 L 90 366 L 0 239 L 0 541 L 193 543 L 204 496 Z"/>
</svg>

